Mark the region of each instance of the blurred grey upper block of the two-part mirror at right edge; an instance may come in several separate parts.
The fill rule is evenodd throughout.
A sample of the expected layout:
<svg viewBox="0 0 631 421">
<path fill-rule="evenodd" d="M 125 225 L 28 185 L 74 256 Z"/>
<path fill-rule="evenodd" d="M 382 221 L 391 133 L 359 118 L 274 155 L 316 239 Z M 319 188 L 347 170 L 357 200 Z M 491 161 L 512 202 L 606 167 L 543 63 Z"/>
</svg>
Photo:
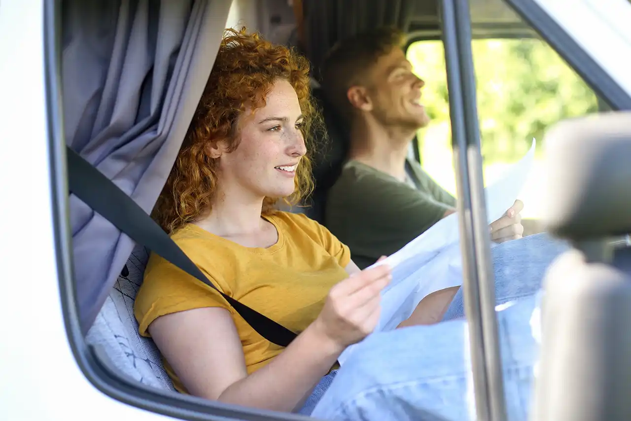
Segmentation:
<svg viewBox="0 0 631 421">
<path fill-rule="evenodd" d="M 545 136 L 551 234 L 573 240 L 631 232 L 631 112 L 573 119 Z"/>
</svg>

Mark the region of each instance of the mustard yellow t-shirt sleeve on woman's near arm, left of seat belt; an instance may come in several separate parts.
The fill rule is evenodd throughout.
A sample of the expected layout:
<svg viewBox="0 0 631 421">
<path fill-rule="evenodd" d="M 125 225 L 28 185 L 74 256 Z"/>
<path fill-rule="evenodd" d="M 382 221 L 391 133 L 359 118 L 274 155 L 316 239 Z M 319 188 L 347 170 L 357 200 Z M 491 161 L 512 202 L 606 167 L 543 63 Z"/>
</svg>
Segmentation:
<svg viewBox="0 0 631 421">
<path fill-rule="evenodd" d="M 222 292 L 230 295 L 225 285 L 221 285 L 204 270 L 202 272 Z M 234 311 L 217 290 L 152 253 L 134 303 L 134 316 L 139 324 L 140 335 L 149 337 L 147 328 L 160 316 L 204 307 L 221 307 L 231 313 Z"/>
</svg>

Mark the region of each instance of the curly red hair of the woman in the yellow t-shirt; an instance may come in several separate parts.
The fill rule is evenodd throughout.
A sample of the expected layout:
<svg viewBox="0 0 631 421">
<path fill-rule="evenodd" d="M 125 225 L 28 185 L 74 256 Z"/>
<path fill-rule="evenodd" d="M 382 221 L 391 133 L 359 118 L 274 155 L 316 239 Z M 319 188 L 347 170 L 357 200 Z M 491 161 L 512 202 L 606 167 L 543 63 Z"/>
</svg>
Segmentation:
<svg viewBox="0 0 631 421">
<path fill-rule="evenodd" d="M 298 95 L 305 143 L 311 151 L 309 134 L 322 120 L 311 99 L 307 59 L 287 47 L 271 44 L 258 33 L 246 33 L 245 28 L 225 30 L 191 126 L 153 211 L 166 232 L 174 232 L 211 211 L 218 177 L 217 160 L 210 157 L 208 144 L 223 140 L 228 142 L 228 150 L 235 150 L 239 145 L 238 117 L 246 105 L 252 110 L 263 107 L 277 80 L 288 81 Z M 291 196 L 283 198 L 290 205 L 313 190 L 309 153 L 300 160 L 295 187 Z M 273 213 L 277 200 L 265 198 L 262 215 Z"/>
</svg>

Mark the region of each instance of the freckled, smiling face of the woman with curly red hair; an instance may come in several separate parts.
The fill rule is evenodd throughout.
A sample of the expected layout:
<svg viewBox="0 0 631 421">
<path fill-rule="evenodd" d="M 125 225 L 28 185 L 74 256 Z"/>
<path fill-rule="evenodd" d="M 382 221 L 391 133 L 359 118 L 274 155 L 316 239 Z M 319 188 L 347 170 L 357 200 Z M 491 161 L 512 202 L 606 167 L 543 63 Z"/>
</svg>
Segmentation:
<svg viewBox="0 0 631 421">
<path fill-rule="evenodd" d="M 246 109 L 237 124 L 239 146 L 219 160 L 221 188 L 252 199 L 292 194 L 298 163 L 307 151 L 300 131 L 300 103 L 292 85 L 276 81 L 266 105 L 254 113 Z"/>
</svg>

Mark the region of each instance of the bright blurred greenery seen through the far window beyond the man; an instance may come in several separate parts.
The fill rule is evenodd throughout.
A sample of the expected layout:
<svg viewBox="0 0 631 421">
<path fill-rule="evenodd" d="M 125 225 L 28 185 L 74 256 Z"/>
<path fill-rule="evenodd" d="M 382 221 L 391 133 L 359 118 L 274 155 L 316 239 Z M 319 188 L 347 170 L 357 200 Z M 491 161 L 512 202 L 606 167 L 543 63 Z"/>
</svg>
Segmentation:
<svg viewBox="0 0 631 421">
<path fill-rule="evenodd" d="M 598 100 L 554 50 L 537 39 L 474 40 L 478 116 L 485 184 L 519 160 L 537 139 L 536 160 L 526 187 L 524 218 L 541 215 L 543 133 L 562 119 L 598 111 Z M 449 100 L 440 41 L 410 45 L 408 59 L 425 81 L 422 102 L 432 122 L 420 130 L 423 168 L 456 195 L 452 165 Z"/>
</svg>

